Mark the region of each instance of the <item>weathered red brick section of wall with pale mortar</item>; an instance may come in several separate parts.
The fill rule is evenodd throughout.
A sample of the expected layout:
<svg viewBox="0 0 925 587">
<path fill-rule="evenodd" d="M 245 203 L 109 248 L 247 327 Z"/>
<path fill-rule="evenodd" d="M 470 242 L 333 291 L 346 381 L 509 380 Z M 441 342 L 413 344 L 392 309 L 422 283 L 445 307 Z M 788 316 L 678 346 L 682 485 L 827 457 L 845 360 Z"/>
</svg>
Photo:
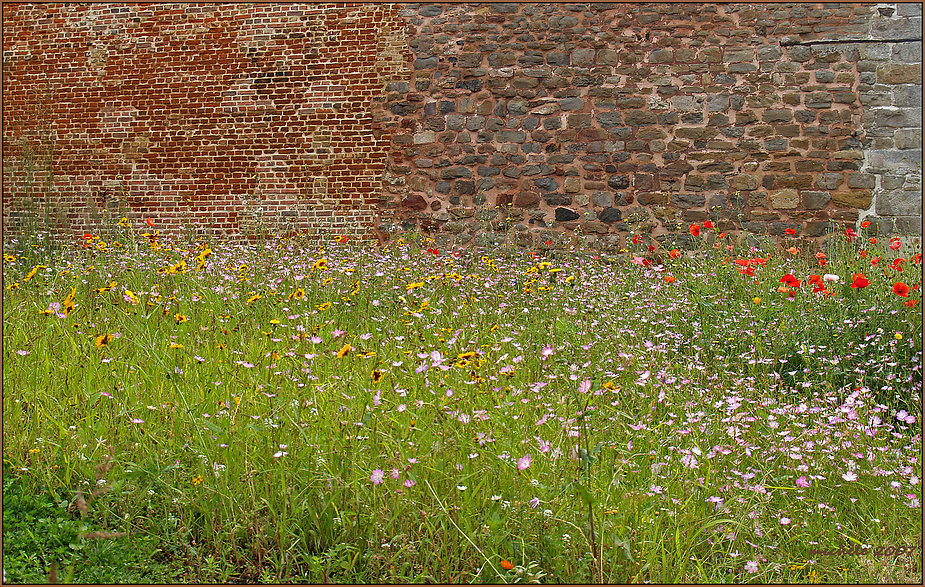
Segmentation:
<svg viewBox="0 0 925 587">
<path fill-rule="evenodd" d="M 371 110 L 406 67 L 382 4 L 3 6 L 4 220 L 53 154 L 53 228 L 364 234 L 386 138 Z M 53 149 L 50 141 L 53 138 Z M 42 176 L 42 177 L 40 177 Z"/>
</svg>

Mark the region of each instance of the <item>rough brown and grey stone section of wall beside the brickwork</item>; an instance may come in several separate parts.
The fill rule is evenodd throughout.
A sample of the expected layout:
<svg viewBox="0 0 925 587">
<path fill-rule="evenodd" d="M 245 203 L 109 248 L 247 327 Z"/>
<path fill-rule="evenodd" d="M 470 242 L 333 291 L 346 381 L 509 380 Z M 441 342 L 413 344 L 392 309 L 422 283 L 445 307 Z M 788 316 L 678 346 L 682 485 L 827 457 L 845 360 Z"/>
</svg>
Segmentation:
<svg viewBox="0 0 925 587">
<path fill-rule="evenodd" d="M 405 5 L 384 232 L 921 231 L 921 5 Z M 452 236 L 455 235 L 455 236 Z"/>
</svg>

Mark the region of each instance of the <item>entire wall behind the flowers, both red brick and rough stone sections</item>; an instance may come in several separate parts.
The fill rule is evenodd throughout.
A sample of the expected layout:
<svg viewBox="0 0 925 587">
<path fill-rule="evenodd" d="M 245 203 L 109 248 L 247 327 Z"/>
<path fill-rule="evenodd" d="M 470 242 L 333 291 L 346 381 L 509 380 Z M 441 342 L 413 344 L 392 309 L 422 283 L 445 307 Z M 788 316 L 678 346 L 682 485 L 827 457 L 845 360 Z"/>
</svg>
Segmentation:
<svg viewBox="0 0 925 587">
<path fill-rule="evenodd" d="M 457 245 L 612 248 L 707 219 L 922 229 L 921 4 L 23 4 L 3 20 L 13 226 L 47 195 L 70 231 L 123 211 Z"/>
</svg>

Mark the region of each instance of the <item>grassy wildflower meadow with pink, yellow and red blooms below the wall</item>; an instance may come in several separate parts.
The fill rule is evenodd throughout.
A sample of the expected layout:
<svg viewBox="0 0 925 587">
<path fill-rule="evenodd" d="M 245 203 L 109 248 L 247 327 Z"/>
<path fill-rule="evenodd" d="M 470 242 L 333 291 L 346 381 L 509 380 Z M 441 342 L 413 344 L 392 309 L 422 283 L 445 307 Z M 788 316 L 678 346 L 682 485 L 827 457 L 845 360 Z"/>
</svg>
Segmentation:
<svg viewBox="0 0 925 587">
<path fill-rule="evenodd" d="M 150 225 L 7 244 L 7 582 L 922 580 L 918 241 Z"/>
</svg>

